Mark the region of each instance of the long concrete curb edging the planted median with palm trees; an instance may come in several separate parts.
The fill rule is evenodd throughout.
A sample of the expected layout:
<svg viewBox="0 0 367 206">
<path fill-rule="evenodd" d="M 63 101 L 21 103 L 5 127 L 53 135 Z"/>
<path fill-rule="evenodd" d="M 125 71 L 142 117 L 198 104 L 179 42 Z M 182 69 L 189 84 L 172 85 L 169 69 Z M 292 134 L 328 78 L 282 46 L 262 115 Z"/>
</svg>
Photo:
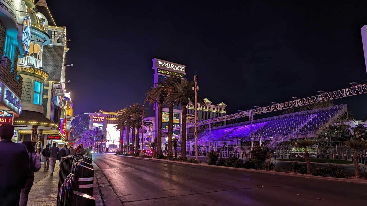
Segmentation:
<svg viewBox="0 0 367 206">
<path fill-rule="evenodd" d="M 279 175 L 284 175 L 284 176 L 301 177 L 301 178 L 304 177 L 304 178 L 319 179 L 319 180 L 334 180 L 334 181 L 349 182 L 349 183 L 367 184 L 367 180 L 361 180 L 361 179 L 342 179 L 342 178 L 337 178 L 337 177 L 320 177 L 320 176 L 312 176 L 312 175 L 307 175 L 307 174 L 294 174 L 294 173 L 275 172 L 275 171 L 268 171 L 268 170 L 230 168 L 230 167 L 226 167 L 226 166 L 207 165 L 206 163 L 177 162 L 177 161 L 172 161 L 172 160 L 167 160 L 167 159 L 132 157 L 132 156 L 124 156 L 124 155 L 118 155 L 118 156 L 129 157 L 129 158 L 138 158 L 138 159 L 147 159 L 147 160 L 154 160 L 154 161 L 175 162 L 175 163 L 178 163 L 178 164 L 196 165 L 196 166 L 204 166 L 204 167 L 211 167 L 211 168 L 231 169 L 231 170 L 240 170 L 240 171 L 247 171 L 247 172 L 265 173 L 265 174 L 279 174 Z"/>
</svg>

